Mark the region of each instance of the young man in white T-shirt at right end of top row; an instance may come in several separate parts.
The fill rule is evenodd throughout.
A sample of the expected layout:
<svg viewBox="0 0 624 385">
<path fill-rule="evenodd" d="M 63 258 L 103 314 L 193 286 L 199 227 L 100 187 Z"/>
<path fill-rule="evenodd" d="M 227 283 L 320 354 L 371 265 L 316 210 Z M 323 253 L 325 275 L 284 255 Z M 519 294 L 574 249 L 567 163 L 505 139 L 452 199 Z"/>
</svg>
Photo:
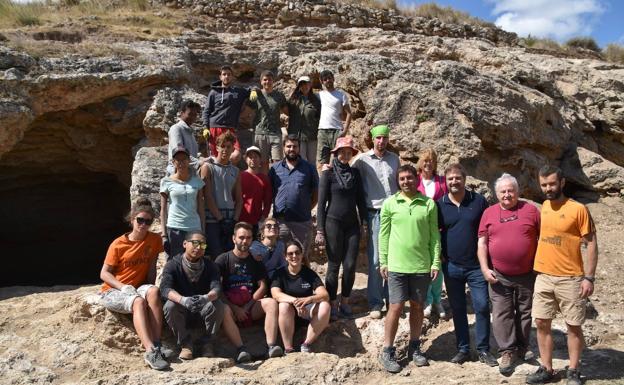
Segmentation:
<svg viewBox="0 0 624 385">
<path fill-rule="evenodd" d="M 319 164 L 327 164 L 329 163 L 330 151 L 336 144 L 336 139 L 349 132 L 351 107 L 347 94 L 334 87 L 334 74 L 331 71 L 321 71 L 320 78 L 324 90 L 319 92 L 321 116 L 316 159 Z M 342 125 L 343 116 L 345 118 L 344 126 Z"/>
</svg>

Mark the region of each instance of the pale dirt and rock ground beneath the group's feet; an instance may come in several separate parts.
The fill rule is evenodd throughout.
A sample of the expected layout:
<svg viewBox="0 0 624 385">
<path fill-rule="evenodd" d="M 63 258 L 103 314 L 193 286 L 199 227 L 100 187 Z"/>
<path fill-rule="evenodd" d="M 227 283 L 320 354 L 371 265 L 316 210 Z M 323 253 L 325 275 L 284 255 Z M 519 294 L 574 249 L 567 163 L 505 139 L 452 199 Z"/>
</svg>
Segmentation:
<svg viewBox="0 0 624 385">
<path fill-rule="evenodd" d="M 605 198 L 588 207 L 597 225 L 600 254 L 596 292 L 584 325 L 587 348 L 581 370 L 587 384 L 624 384 L 624 201 Z M 537 368 L 537 361 L 523 363 L 503 377 L 497 368 L 477 361 L 451 364 L 453 323 L 434 317 L 424 326 L 431 365 L 416 368 L 408 363 L 403 319 L 397 347 L 405 367 L 396 375 L 386 373 L 377 363 L 383 320 L 370 319 L 365 312 L 364 272 L 360 266 L 352 296 L 355 319 L 332 323 L 314 346 L 319 353 L 263 360 L 260 348 L 252 351 L 257 361 L 234 365 L 229 358 L 233 349 L 220 337 L 215 342 L 219 358 L 174 361 L 166 372 L 144 364 L 127 317 L 94 303 L 99 286 L 0 288 L 0 384 L 523 384 L 525 375 Z M 563 370 L 565 325 L 556 320 L 554 329 L 554 365 Z M 264 340 L 259 326 L 245 330 L 243 337 L 248 346 L 261 346 Z M 172 342 L 170 333 L 164 341 Z M 537 353 L 534 337 L 532 350 Z"/>
</svg>

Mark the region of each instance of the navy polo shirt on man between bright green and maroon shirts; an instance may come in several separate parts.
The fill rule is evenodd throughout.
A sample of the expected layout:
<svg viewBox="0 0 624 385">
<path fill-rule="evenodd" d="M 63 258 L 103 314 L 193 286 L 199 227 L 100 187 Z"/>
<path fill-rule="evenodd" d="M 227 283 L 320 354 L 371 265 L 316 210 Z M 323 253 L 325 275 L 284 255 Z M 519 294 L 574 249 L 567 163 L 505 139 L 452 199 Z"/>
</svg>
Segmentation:
<svg viewBox="0 0 624 385">
<path fill-rule="evenodd" d="M 448 194 L 436 203 L 444 259 L 461 267 L 479 267 L 477 233 L 481 215 L 488 208 L 487 200 L 483 195 L 466 190 L 459 207 L 451 202 Z"/>
</svg>

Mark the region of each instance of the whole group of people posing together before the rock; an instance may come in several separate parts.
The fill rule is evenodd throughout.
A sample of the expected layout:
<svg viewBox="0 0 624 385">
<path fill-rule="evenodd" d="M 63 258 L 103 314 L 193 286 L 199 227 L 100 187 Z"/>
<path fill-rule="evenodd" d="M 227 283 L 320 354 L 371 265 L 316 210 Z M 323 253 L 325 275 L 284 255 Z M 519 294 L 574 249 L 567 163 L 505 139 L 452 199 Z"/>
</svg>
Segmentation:
<svg viewBox="0 0 624 385">
<path fill-rule="evenodd" d="M 133 314 L 152 368 L 168 367 L 172 354 L 160 342 L 163 319 L 181 359 L 212 355 L 211 338 L 223 330 L 237 348 L 237 362 L 249 361 L 239 328 L 262 319 L 268 357 L 294 351 L 298 325 L 307 325 L 299 349 L 309 352 L 330 320 L 353 315 L 355 265 L 366 237 L 369 316 L 382 318 L 385 306 L 379 360 L 387 371 L 401 370 L 394 339 L 406 302 L 408 355 L 417 366 L 428 365 L 420 346 L 422 322 L 433 311 L 445 317 L 444 282 L 457 339 L 451 362 L 470 359 L 468 286 L 479 361 L 509 374 L 517 359 L 531 358 L 533 317 L 542 366 L 527 383 L 552 379 L 550 328 L 561 312 L 568 326 L 568 383 L 580 383 L 581 325 L 584 301 L 593 292 L 597 242 L 585 206 L 563 195 L 561 170 L 545 166 L 539 172 L 546 197 L 541 212 L 519 199 L 518 182 L 509 174 L 495 182 L 498 204 L 489 206 L 466 189 L 461 164 L 438 175 L 432 149 L 419 154 L 416 167 L 401 164 L 388 149 L 387 125 L 370 129 L 372 148 L 358 154 L 345 135 L 348 98 L 334 88 L 331 72 L 320 73 L 324 90 L 318 95 L 303 76 L 289 99 L 273 88 L 273 78 L 263 72 L 262 88 L 248 90 L 232 84 L 230 67 L 221 68 L 203 111 L 210 156 L 200 154 L 191 128 L 201 107 L 182 103 L 180 121 L 169 131 L 170 161 L 160 185 L 162 239 L 149 231 L 156 213 L 140 199 L 129 215 L 132 231 L 109 248 L 102 302 Z M 256 110 L 255 142 L 244 151 L 247 168 L 241 171 L 236 128 L 244 104 Z M 287 128 L 280 114 L 288 115 Z M 326 248 L 325 282 L 308 267 L 312 242 Z M 158 288 L 156 258 L 163 250 L 167 263 Z M 204 330 L 196 341 L 193 324 Z M 490 352 L 490 329 L 500 364 Z"/>
</svg>

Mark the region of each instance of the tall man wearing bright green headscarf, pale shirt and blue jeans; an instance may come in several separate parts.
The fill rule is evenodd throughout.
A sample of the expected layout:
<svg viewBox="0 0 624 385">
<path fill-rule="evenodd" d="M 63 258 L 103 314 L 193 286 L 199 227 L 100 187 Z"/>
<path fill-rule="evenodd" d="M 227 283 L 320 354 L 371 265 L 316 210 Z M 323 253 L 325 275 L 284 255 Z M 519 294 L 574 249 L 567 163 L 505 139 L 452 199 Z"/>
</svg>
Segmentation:
<svg viewBox="0 0 624 385">
<path fill-rule="evenodd" d="M 396 170 L 401 161 L 399 156 L 387 150 L 390 128 L 378 125 L 370 130 L 373 148 L 362 153 L 353 163 L 360 171 L 364 182 L 364 194 L 368 210 L 368 307 L 372 318 L 381 318 L 384 298 L 388 298 L 388 288 L 384 288 L 379 273 L 379 220 L 384 200 L 398 190 Z"/>
</svg>

